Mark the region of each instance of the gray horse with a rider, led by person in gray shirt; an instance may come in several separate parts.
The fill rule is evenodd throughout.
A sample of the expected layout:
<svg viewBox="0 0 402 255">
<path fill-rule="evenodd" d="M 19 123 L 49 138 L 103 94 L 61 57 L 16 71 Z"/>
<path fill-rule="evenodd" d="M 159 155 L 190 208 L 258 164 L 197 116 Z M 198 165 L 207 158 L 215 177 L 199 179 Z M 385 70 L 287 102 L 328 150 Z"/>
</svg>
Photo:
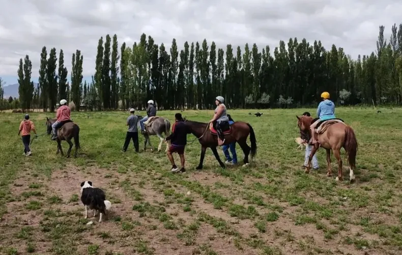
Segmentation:
<svg viewBox="0 0 402 255">
<path fill-rule="evenodd" d="M 138 116 L 138 119 L 141 119 L 141 116 Z M 146 126 L 146 133 L 143 133 L 142 135 L 145 138 L 144 142 L 144 148 L 143 150 L 147 149 L 147 143 L 152 149 L 151 145 L 151 139 L 149 136 L 158 136 L 160 139 L 160 143 L 158 146 L 158 151 L 162 149 L 162 143 L 165 140 L 165 138 L 162 136 L 163 133 L 165 133 L 165 136 L 170 135 L 170 122 L 168 119 L 162 118 L 162 117 L 156 117 L 152 122 L 151 125 L 147 124 L 148 120 L 144 123 Z M 138 121 L 138 129 L 140 129 L 139 121 Z M 165 152 L 167 152 L 168 147 L 170 146 L 170 142 L 166 142 L 166 149 Z"/>
</svg>

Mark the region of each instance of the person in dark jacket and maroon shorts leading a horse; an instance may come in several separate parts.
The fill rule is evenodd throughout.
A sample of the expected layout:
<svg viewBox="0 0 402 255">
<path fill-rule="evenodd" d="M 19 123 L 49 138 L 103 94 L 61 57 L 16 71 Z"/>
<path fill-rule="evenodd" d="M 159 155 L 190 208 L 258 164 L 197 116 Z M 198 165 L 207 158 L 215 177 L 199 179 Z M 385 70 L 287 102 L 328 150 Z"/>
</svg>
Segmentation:
<svg viewBox="0 0 402 255">
<path fill-rule="evenodd" d="M 175 160 L 173 158 L 172 153 L 177 152 L 180 156 L 180 162 L 182 164 L 182 168 L 180 169 L 180 173 L 184 173 L 186 170 L 184 169 L 184 148 L 187 144 L 187 134 L 190 134 L 190 131 L 183 120 L 181 113 L 175 114 L 176 122 L 173 124 L 171 128 L 170 136 L 166 137 L 166 141 L 170 140 L 170 147 L 167 151 L 167 157 L 171 163 L 170 172 L 177 172 L 178 168 L 175 164 Z"/>
</svg>

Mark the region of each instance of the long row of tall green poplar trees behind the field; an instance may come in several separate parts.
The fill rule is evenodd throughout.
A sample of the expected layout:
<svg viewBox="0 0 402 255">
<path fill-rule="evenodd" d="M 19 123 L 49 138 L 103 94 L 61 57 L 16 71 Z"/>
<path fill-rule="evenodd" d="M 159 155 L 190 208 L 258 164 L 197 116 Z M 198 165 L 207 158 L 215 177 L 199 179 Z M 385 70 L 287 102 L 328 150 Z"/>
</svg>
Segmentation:
<svg viewBox="0 0 402 255">
<path fill-rule="evenodd" d="M 58 73 L 56 62 L 59 60 Z M 63 51 L 41 54 L 39 85 L 31 82 L 32 63 L 20 59 L 18 77 L 20 103 L 28 108 L 36 102 L 54 110 L 58 99 L 67 98 L 79 110 L 143 108 L 153 99 L 160 109 L 214 107 L 222 95 L 231 108 L 296 107 L 316 105 L 322 91 L 340 104 L 402 104 L 402 24 L 392 26 L 389 41 L 380 26 L 376 53 L 356 60 L 332 45 L 305 39 L 279 42 L 261 51 L 256 44 L 224 51 L 205 39 L 184 43 L 179 51 L 173 39 L 169 51 L 142 34 L 139 42 L 119 50 L 117 35 L 99 39 L 92 82 L 82 84 L 82 55 L 72 57 L 71 85 L 67 83 Z"/>
</svg>

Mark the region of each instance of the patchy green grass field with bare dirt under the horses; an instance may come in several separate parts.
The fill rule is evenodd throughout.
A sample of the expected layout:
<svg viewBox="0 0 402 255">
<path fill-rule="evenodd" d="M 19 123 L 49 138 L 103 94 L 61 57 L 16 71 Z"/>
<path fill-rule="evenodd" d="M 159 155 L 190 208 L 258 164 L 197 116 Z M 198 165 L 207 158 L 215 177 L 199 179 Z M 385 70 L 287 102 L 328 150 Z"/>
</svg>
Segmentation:
<svg viewBox="0 0 402 255">
<path fill-rule="evenodd" d="M 257 118 L 250 110 L 231 110 L 254 128 L 254 161 L 221 169 L 208 150 L 203 171 L 195 171 L 196 141 L 186 148 L 185 174 L 168 173 L 164 152 L 136 154 L 132 143 L 121 152 L 127 113 L 73 112 L 81 129 L 78 158 L 55 155 L 49 136 L 33 142 L 31 157 L 23 156 L 17 136 L 23 114 L 2 113 L 0 254 L 401 254 L 402 109 L 336 110 L 359 142 L 354 184 L 345 160 L 344 181 L 326 177 L 322 149 L 320 170 L 304 173 L 304 150 L 294 138 L 295 115 L 305 110 L 315 112 L 262 110 Z M 159 115 L 173 122 L 174 113 Z M 212 114 L 183 113 L 197 121 Z M 45 133 L 46 116 L 52 114 L 31 114 L 38 134 Z M 156 148 L 155 136 L 152 142 Z M 242 161 L 239 146 L 237 152 Z M 112 202 L 102 223 L 99 215 L 90 218 L 92 211 L 84 219 L 84 180 Z"/>
</svg>

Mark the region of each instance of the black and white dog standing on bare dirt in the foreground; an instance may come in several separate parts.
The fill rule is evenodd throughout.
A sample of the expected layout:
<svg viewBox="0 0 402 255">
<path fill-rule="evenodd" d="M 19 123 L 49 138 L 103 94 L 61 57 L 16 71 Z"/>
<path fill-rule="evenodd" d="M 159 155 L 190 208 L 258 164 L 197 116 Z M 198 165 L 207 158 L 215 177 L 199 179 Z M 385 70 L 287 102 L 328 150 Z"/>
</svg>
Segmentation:
<svg viewBox="0 0 402 255">
<path fill-rule="evenodd" d="M 88 207 L 94 210 L 94 217 L 96 211 L 99 211 L 99 222 L 102 222 L 102 214 L 106 214 L 106 210 L 109 210 L 111 203 L 105 200 L 105 193 L 100 188 L 94 188 L 92 181 L 81 182 L 81 202 L 85 207 L 85 218 L 88 218 Z"/>
</svg>

